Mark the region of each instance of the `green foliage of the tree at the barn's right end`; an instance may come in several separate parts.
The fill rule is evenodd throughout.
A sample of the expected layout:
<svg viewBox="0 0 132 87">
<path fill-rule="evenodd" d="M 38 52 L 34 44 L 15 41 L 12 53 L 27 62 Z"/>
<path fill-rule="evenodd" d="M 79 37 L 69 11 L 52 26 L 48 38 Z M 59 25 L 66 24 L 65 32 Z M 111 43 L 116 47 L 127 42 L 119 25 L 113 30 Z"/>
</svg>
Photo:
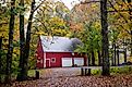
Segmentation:
<svg viewBox="0 0 132 87">
<path fill-rule="evenodd" d="M 84 30 L 80 35 L 82 47 L 79 47 L 75 51 L 91 53 L 93 50 L 98 50 L 101 48 L 101 35 L 100 32 L 89 24 L 85 24 Z"/>
</svg>

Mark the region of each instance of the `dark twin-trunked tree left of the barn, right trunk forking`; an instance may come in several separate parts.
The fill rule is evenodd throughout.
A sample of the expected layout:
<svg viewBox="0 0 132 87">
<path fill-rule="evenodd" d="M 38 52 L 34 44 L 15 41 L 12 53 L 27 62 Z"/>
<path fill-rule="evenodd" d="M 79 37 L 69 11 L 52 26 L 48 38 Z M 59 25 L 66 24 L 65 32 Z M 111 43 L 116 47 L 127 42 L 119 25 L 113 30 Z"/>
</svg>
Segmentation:
<svg viewBox="0 0 132 87">
<path fill-rule="evenodd" d="M 45 0 L 44 0 L 45 1 Z M 32 0 L 32 4 L 31 4 L 31 12 L 29 12 L 29 17 L 28 17 L 28 23 L 27 23 L 27 32 L 26 32 L 26 39 L 22 38 L 24 37 L 24 33 L 22 33 L 21 37 L 21 60 L 20 60 L 20 74 L 17 75 L 17 79 L 19 80 L 25 80 L 27 79 L 27 71 L 28 71 L 28 57 L 29 57 L 29 41 L 31 41 L 31 28 L 32 28 L 32 24 L 33 24 L 33 15 L 34 12 L 44 3 L 44 1 L 40 1 L 40 3 L 35 8 L 35 0 Z M 24 1 L 22 1 L 22 7 L 24 7 Z M 23 8 L 24 9 L 24 8 Z M 22 14 L 20 14 L 20 20 L 22 21 L 20 23 L 20 29 L 21 32 L 24 32 L 24 16 L 23 16 L 23 11 L 22 10 Z M 22 55 L 24 54 L 24 55 Z M 21 63 L 22 62 L 22 63 Z"/>
</svg>

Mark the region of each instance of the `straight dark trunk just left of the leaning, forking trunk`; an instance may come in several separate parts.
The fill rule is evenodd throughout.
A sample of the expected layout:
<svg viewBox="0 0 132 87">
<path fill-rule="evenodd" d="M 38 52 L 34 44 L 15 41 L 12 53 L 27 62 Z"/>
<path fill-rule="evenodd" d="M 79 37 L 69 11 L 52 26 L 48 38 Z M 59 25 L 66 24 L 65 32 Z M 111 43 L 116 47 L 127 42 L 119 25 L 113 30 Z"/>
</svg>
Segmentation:
<svg viewBox="0 0 132 87">
<path fill-rule="evenodd" d="M 24 0 L 20 1 L 20 7 L 22 7 L 22 11 L 20 13 L 20 73 L 17 74 L 17 80 L 23 80 L 24 73 L 22 70 L 24 70 L 23 59 L 24 59 L 24 45 L 25 45 L 25 36 L 24 36 Z"/>
</svg>

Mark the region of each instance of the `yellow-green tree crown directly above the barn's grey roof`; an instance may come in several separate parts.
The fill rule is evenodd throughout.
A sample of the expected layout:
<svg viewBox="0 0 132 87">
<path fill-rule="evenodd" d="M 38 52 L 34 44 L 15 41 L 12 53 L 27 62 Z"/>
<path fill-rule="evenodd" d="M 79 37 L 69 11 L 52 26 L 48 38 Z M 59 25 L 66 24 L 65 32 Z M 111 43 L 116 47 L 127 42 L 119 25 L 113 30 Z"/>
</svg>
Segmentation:
<svg viewBox="0 0 132 87">
<path fill-rule="evenodd" d="M 67 20 L 62 16 L 67 14 L 65 10 L 67 8 L 62 2 L 46 1 L 35 16 L 35 23 L 39 23 L 39 26 L 36 26 L 39 34 L 48 36 L 69 35 Z"/>
</svg>

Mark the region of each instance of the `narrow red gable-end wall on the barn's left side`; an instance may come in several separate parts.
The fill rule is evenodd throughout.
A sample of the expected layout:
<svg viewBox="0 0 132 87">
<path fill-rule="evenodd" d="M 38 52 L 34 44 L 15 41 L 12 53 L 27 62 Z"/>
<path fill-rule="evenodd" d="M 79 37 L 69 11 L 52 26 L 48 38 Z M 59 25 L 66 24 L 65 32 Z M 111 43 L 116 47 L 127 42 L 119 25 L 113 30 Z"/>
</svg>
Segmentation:
<svg viewBox="0 0 132 87">
<path fill-rule="evenodd" d="M 37 57 L 36 66 L 37 66 L 38 69 L 44 67 L 44 51 L 43 51 L 40 38 L 39 38 L 39 41 L 38 41 L 38 45 L 37 45 L 36 57 Z"/>
</svg>

